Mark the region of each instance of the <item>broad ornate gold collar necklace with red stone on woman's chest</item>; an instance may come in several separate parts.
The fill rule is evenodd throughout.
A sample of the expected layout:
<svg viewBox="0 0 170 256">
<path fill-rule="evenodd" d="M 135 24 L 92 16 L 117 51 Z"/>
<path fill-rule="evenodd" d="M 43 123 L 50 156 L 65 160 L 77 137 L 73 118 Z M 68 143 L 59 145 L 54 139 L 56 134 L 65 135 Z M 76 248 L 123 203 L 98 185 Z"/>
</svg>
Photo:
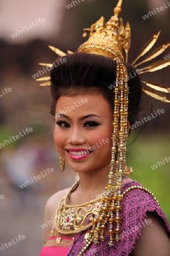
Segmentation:
<svg viewBox="0 0 170 256">
<path fill-rule="evenodd" d="M 92 225 L 91 221 L 95 219 L 99 212 L 101 207 L 101 197 L 104 192 L 101 193 L 100 197 L 84 204 L 66 204 L 67 197 L 70 196 L 71 192 L 73 192 L 79 184 L 80 180 L 71 187 L 70 191 L 63 197 L 58 206 L 55 216 L 55 226 L 58 233 L 75 234 L 90 228 Z M 90 223 L 87 224 L 88 220 L 90 220 Z"/>
</svg>

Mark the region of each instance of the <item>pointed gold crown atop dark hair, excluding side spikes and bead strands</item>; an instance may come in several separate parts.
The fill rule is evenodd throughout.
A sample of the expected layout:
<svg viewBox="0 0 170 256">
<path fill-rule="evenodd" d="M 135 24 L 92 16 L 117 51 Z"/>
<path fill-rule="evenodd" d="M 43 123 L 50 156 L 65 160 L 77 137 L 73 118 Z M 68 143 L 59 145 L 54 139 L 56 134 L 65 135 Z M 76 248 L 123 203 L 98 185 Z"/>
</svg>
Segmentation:
<svg viewBox="0 0 170 256">
<path fill-rule="evenodd" d="M 78 52 L 95 53 L 105 57 L 111 57 L 114 60 L 124 61 L 123 51 L 126 53 L 126 62 L 128 61 L 128 51 L 130 48 L 130 24 L 126 23 L 124 27 L 123 19 L 118 19 L 121 13 L 122 0 L 118 1 L 114 8 L 114 16 L 105 23 L 103 16 L 91 28 L 84 28 L 83 37 L 89 35 L 89 39 L 83 43 Z"/>
</svg>

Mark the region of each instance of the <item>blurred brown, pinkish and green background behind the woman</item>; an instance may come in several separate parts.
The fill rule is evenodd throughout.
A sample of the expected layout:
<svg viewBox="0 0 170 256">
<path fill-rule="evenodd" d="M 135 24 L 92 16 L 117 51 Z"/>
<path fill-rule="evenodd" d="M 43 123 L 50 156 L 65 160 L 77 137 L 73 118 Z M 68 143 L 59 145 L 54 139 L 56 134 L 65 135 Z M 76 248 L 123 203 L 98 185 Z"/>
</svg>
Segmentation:
<svg viewBox="0 0 170 256">
<path fill-rule="evenodd" d="M 48 46 L 64 52 L 67 49 L 76 51 L 84 42 L 83 28 L 90 27 L 101 15 L 109 19 L 117 3 L 116 0 L 79 2 L 74 6 L 71 0 L 0 0 L 0 143 L 23 133 L 27 127 L 33 129 L 27 136 L 0 148 L 0 244 L 10 242 L 19 234 L 26 237 L 1 251 L 4 256 L 39 255 L 46 200 L 75 180 L 69 167 L 64 173 L 59 170 L 59 156 L 53 142 L 54 121 L 49 114 L 50 88 L 40 87 L 33 75 L 42 70 L 38 63 L 53 63 L 55 60 L 56 55 Z M 66 7 L 69 3 L 73 6 L 70 9 Z M 159 30 L 162 33 L 155 48 L 170 41 L 170 8 L 142 18 L 163 3 L 167 4 L 164 0 L 124 1 L 121 16 L 124 23 L 129 20 L 132 33 L 129 63 Z M 44 18 L 45 22 L 40 23 L 39 18 Z M 34 24 L 33 28 L 24 32 L 23 28 L 31 24 Z M 18 33 L 19 30 L 23 34 Z M 169 49 L 158 60 L 163 60 L 168 54 Z M 165 68 L 141 77 L 144 81 L 170 86 L 169 71 Z M 6 93 L 5 88 L 11 88 L 11 92 Z M 158 109 L 164 109 L 164 114 L 131 131 L 127 160 L 128 166 L 133 166 L 133 179 L 154 192 L 170 221 L 170 163 L 164 160 L 170 156 L 170 104 L 143 96 L 137 121 Z M 151 168 L 163 160 L 158 168 Z M 23 189 L 19 187 L 30 177 L 41 172 L 45 174 L 47 168 L 54 168 L 54 172 Z"/>
</svg>

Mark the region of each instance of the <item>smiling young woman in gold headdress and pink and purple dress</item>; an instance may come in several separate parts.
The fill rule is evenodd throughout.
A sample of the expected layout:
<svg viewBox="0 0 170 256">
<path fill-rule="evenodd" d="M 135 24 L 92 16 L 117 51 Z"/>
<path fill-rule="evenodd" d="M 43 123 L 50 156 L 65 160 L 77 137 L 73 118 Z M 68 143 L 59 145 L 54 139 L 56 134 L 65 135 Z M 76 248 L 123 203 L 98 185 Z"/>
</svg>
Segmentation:
<svg viewBox="0 0 170 256">
<path fill-rule="evenodd" d="M 100 27 L 101 19 L 95 33 Z M 168 256 L 169 226 L 158 201 L 126 176 L 126 141 L 141 81 L 138 75 L 128 79 L 136 71 L 117 48 L 109 55 L 111 43 L 102 49 L 98 43 L 88 42 L 52 68 L 54 142 L 62 171 L 67 162 L 79 181 L 46 203 L 44 221 L 55 217 L 55 225 L 45 229 L 40 256 Z"/>
</svg>

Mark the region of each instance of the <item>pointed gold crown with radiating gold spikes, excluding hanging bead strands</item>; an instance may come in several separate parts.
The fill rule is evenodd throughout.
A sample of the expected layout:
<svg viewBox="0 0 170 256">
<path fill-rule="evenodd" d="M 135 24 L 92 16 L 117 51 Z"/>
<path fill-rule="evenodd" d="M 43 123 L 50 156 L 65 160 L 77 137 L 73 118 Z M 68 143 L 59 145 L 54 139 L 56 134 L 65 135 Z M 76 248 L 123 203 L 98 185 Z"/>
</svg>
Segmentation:
<svg viewBox="0 0 170 256">
<path fill-rule="evenodd" d="M 79 53 L 95 53 L 97 55 L 103 55 L 106 57 L 111 57 L 113 60 L 121 60 L 124 61 L 123 53 L 125 52 L 126 58 L 125 62 L 128 62 L 128 52 L 130 49 L 130 42 L 131 42 L 131 32 L 130 32 L 130 24 L 129 22 L 126 23 L 124 27 L 123 19 L 119 18 L 118 15 L 121 13 L 121 5 L 123 0 L 119 0 L 117 6 L 114 8 L 114 15 L 109 19 L 107 23 L 104 21 L 104 17 L 101 16 L 96 23 L 92 24 L 91 28 L 84 28 L 83 37 L 89 35 L 88 40 L 83 43 L 79 48 Z M 137 62 L 141 57 L 145 56 L 147 52 L 155 45 L 157 42 L 161 31 L 158 31 L 155 35 L 153 35 L 143 46 L 141 52 L 139 53 L 138 57 L 133 61 L 131 65 L 134 68 L 138 67 L 139 65 L 146 63 L 158 57 L 161 53 L 165 51 L 170 46 L 170 43 L 163 44 L 162 46 L 156 48 L 154 51 L 149 53 L 144 60 Z M 73 54 L 74 52 L 67 51 L 67 53 L 62 52 L 58 48 L 53 46 L 49 46 L 52 51 L 54 51 L 58 56 L 66 56 L 67 54 Z M 46 64 L 46 63 L 39 63 L 40 65 L 44 65 L 47 67 L 53 67 L 53 64 Z M 159 60 L 154 63 L 151 63 L 147 67 L 141 67 L 142 73 L 146 72 L 155 72 L 159 69 L 163 69 L 170 65 L 170 59 L 167 60 Z M 44 81 L 42 86 L 50 85 L 51 82 L 49 81 L 50 77 L 41 77 L 37 79 L 37 81 Z M 148 96 L 156 98 L 156 100 L 160 100 L 163 102 L 170 102 L 162 93 L 170 93 L 170 88 L 164 86 L 162 84 L 158 84 L 156 82 L 146 82 L 142 81 L 143 84 L 148 86 L 148 89 L 143 89 Z M 154 89 L 154 90 L 153 90 Z"/>
</svg>

